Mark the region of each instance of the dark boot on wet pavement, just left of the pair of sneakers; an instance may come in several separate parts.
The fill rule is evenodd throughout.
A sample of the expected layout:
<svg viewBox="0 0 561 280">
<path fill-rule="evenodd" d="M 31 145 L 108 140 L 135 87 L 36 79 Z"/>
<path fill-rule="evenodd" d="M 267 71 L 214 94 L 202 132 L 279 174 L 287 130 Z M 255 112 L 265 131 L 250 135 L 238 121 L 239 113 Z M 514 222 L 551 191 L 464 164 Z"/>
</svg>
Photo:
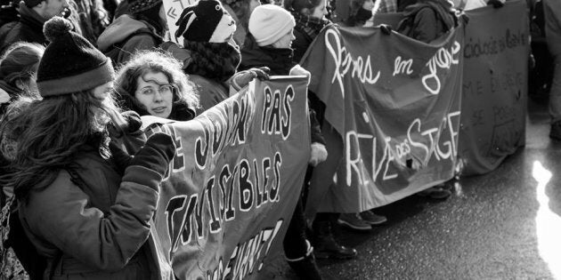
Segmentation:
<svg viewBox="0 0 561 280">
<path fill-rule="evenodd" d="M 352 259 L 356 250 L 337 244 L 331 231 L 331 222 L 328 220 L 314 221 L 313 233 L 315 257 L 318 259 Z"/>
</svg>

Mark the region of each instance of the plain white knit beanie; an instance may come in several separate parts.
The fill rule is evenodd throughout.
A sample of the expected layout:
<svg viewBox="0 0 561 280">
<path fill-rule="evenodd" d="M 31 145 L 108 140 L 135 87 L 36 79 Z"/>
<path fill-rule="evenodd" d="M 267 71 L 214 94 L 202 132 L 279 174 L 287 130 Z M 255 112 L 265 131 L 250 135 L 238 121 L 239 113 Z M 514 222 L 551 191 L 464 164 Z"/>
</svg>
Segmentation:
<svg viewBox="0 0 561 280">
<path fill-rule="evenodd" d="M 259 46 L 277 42 L 296 26 L 289 11 L 275 4 L 262 4 L 249 16 L 249 33 Z"/>
</svg>

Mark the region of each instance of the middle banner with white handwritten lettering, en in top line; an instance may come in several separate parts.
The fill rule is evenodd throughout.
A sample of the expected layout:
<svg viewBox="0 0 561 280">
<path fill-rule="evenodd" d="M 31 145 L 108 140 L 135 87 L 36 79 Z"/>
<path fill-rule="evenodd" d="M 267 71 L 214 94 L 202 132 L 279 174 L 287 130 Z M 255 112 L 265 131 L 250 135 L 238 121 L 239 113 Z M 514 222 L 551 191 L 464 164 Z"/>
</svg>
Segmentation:
<svg viewBox="0 0 561 280">
<path fill-rule="evenodd" d="M 337 152 L 328 143 L 327 163 L 314 170 L 308 214 L 362 212 L 452 178 L 463 27 L 442 41 L 424 44 L 379 28 L 336 26 L 316 38 L 302 66 L 312 73 L 310 91 L 326 104 L 325 120 L 343 144 Z"/>
</svg>

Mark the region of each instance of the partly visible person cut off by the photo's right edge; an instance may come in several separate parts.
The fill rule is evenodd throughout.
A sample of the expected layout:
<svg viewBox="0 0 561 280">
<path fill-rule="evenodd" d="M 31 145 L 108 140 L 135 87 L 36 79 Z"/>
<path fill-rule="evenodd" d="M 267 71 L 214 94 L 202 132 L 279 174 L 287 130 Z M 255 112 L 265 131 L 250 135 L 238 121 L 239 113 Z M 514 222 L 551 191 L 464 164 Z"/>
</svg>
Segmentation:
<svg viewBox="0 0 561 280">
<path fill-rule="evenodd" d="M 561 2 L 543 0 L 543 13 L 546 42 L 554 61 L 553 79 L 549 90 L 549 116 L 551 116 L 549 137 L 553 140 L 561 140 Z"/>
</svg>

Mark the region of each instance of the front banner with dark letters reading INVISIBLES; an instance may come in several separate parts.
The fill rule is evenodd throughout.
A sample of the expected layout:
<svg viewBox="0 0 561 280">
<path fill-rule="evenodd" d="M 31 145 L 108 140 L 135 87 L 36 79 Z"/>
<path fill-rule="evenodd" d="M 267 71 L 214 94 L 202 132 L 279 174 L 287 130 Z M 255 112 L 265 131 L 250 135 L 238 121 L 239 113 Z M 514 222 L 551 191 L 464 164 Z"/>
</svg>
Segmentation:
<svg viewBox="0 0 561 280">
<path fill-rule="evenodd" d="M 188 122 L 142 117 L 177 147 L 155 225 L 179 279 L 255 279 L 280 250 L 310 156 L 306 83 L 256 80 Z"/>
</svg>

